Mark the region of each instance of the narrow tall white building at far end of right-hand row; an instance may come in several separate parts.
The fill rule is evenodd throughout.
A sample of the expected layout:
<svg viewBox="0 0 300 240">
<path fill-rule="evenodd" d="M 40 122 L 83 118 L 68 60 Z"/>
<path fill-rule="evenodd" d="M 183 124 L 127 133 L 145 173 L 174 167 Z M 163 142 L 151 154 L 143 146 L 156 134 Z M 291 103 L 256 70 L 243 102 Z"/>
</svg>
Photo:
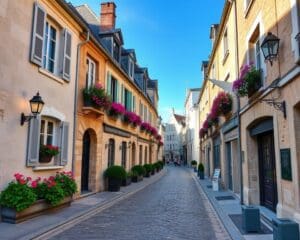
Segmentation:
<svg viewBox="0 0 300 240">
<path fill-rule="evenodd" d="M 199 153 L 199 109 L 198 98 L 200 88 L 187 89 L 187 96 L 184 104 L 186 119 L 186 134 L 184 149 L 187 163 L 190 165 L 192 160 L 200 161 Z"/>
</svg>

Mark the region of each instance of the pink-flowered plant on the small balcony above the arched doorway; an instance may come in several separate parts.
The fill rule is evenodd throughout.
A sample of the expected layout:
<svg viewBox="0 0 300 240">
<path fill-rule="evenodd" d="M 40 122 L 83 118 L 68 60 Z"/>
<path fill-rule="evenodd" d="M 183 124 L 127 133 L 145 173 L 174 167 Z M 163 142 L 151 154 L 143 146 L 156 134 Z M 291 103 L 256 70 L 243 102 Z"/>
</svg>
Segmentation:
<svg viewBox="0 0 300 240">
<path fill-rule="evenodd" d="M 100 83 L 85 88 L 83 90 L 83 97 L 86 105 L 92 104 L 96 108 L 108 109 L 111 104 L 109 96 Z"/>
</svg>

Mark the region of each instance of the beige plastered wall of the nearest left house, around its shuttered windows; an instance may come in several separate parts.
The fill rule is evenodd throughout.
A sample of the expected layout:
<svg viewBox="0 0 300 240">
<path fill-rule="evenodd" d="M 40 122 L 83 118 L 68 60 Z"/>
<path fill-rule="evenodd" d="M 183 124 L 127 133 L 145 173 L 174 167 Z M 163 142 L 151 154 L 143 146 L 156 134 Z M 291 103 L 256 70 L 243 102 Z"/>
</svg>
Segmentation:
<svg viewBox="0 0 300 240">
<path fill-rule="evenodd" d="M 49 16 L 72 33 L 71 80 L 67 83 L 29 61 L 34 2 L 3 0 L 0 4 L 0 189 L 16 172 L 37 177 L 57 171 L 37 172 L 32 167 L 25 167 L 28 123 L 20 126 L 20 114 L 30 113 L 29 100 L 37 91 L 45 108 L 60 113 L 64 121 L 70 123 L 69 161 L 62 170 L 72 169 L 76 50 L 81 29 L 55 1 L 39 1 Z"/>
</svg>

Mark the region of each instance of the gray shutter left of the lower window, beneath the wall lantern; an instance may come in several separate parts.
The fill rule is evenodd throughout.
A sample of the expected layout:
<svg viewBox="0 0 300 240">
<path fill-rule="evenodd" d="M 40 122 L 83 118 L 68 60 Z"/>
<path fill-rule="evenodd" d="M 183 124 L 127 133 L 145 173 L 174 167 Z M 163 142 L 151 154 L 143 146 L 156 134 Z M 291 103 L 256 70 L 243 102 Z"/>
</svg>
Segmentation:
<svg viewBox="0 0 300 240">
<path fill-rule="evenodd" d="M 32 118 L 29 122 L 27 138 L 27 166 L 35 166 L 39 162 L 40 151 L 40 118 Z"/>
</svg>

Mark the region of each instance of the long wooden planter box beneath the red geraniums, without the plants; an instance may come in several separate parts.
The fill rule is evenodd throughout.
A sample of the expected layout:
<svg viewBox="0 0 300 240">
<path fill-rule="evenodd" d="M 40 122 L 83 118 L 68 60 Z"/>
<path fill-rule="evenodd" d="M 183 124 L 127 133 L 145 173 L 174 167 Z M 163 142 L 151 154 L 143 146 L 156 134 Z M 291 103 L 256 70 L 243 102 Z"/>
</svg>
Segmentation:
<svg viewBox="0 0 300 240">
<path fill-rule="evenodd" d="M 54 211 L 60 208 L 68 207 L 71 205 L 72 197 L 64 198 L 59 205 L 52 206 L 47 203 L 44 199 L 36 201 L 29 208 L 17 212 L 13 208 L 1 207 L 1 217 L 3 222 L 7 223 L 20 223 L 30 218 L 40 216 L 44 213 Z"/>
</svg>

